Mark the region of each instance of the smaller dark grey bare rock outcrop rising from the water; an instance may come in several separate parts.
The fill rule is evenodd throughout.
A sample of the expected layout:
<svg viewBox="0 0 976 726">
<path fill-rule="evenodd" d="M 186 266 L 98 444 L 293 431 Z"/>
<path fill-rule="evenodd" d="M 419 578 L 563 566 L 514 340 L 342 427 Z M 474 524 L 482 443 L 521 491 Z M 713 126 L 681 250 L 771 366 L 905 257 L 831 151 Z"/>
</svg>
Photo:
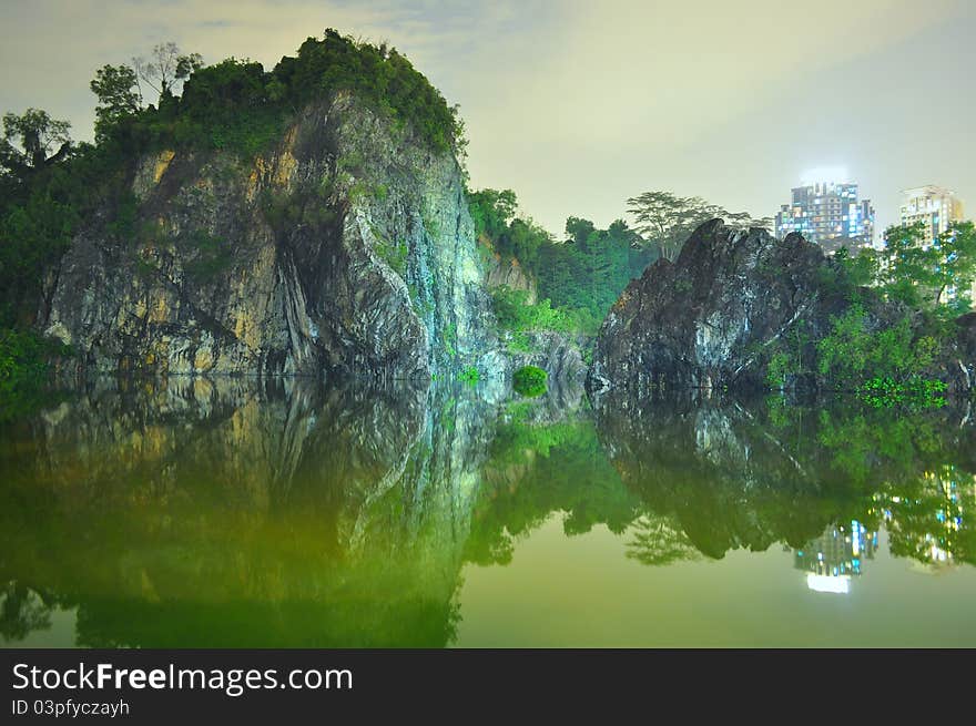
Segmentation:
<svg viewBox="0 0 976 726">
<path fill-rule="evenodd" d="M 801 317 L 823 317 L 821 249 L 800 235 L 700 226 L 672 264 L 632 280 L 600 329 L 590 388 L 714 388 L 753 378 L 753 364 Z"/>
</svg>

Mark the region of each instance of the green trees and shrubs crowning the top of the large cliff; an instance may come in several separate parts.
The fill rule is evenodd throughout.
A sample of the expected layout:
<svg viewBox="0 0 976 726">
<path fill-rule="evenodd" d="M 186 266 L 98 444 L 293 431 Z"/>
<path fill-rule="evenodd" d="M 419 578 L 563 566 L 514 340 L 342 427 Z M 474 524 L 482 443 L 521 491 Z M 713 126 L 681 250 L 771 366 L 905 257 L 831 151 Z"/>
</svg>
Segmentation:
<svg viewBox="0 0 976 726">
<path fill-rule="evenodd" d="M 95 136 L 101 145 L 132 155 L 153 149 L 218 150 L 244 159 L 281 139 L 298 109 L 350 92 L 399 129 L 410 129 L 437 151 L 461 153 L 457 108 L 449 108 L 424 75 L 396 50 L 326 30 L 307 39 L 297 57 L 272 71 L 261 63 L 226 59 L 204 67 L 199 54 L 181 55 L 172 43 L 150 61 L 104 65 L 91 82 L 99 99 Z M 142 106 L 138 81 L 160 93 Z M 182 95 L 173 91 L 182 84 Z M 383 192 L 377 192 L 383 194 Z"/>
</svg>

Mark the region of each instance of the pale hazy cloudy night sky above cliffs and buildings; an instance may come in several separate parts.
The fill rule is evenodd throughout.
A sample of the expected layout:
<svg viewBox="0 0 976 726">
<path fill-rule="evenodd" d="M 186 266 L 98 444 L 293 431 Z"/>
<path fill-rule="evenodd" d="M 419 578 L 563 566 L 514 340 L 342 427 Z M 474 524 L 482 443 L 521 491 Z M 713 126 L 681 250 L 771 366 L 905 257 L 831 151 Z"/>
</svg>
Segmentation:
<svg viewBox="0 0 976 726">
<path fill-rule="evenodd" d="M 2 0 L 0 111 L 91 139 L 104 63 L 174 40 L 271 68 L 326 27 L 404 52 L 460 103 L 476 187 L 561 234 L 647 190 L 761 216 L 813 167 L 877 207 L 954 188 L 976 216 L 974 0 Z"/>
</svg>

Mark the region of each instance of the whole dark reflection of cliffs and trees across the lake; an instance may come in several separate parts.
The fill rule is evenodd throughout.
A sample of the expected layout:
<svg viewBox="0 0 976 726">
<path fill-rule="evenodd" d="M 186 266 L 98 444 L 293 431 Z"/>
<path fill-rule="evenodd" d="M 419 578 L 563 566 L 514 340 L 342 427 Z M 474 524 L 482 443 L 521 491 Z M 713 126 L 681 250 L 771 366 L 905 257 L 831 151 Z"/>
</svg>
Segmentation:
<svg viewBox="0 0 976 726">
<path fill-rule="evenodd" d="M 0 430 L 0 636 L 69 609 L 88 645 L 445 645 L 465 563 L 507 563 L 553 513 L 647 565 L 782 542 L 846 574 L 855 520 L 976 562 L 976 437 L 952 413 L 560 400 L 94 385 Z"/>
</svg>

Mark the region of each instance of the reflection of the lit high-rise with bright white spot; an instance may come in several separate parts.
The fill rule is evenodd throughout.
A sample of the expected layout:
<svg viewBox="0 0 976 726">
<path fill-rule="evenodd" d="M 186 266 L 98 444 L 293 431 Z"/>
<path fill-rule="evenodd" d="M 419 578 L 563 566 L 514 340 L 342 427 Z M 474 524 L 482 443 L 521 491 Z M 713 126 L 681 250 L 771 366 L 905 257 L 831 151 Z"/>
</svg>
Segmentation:
<svg viewBox="0 0 976 726">
<path fill-rule="evenodd" d="M 816 592 L 847 593 L 851 579 L 861 575 L 862 563 L 874 559 L 877 533 L 857 520 L 831 526 L 822 536 L 797 550 L 793 566 L 806 572 L 806 586 Z"/>
</svg>

